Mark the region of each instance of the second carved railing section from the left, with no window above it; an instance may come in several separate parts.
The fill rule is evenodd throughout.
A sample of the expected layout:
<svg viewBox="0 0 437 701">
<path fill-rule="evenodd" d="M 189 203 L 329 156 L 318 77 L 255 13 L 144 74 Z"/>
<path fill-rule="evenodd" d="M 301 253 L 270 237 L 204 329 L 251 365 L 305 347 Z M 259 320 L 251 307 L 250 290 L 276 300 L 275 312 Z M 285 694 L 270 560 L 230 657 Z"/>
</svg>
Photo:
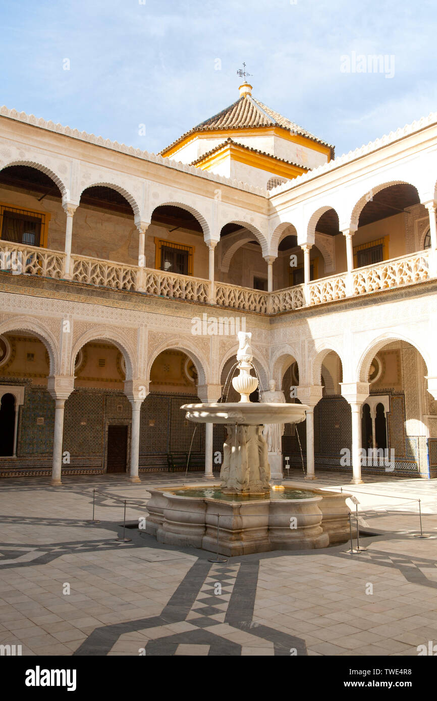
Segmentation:
<svg viewBox="0 0 437 701">
<path fill-rule="evenodd" d="M 72 279 L 75 283 L 110 287 L 112 290 L 137 289 L 137 274 L 140 268 L 76 255 L 72 256 L 72 261 Z"/>
</svg>

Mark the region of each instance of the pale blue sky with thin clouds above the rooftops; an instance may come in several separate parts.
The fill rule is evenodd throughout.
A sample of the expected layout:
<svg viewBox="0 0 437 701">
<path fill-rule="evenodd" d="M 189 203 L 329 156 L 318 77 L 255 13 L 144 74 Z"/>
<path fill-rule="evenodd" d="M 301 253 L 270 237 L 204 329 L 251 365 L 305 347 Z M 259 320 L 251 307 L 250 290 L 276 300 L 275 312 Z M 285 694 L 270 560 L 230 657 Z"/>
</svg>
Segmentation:
<svg viewBox="0 0 437 701">
<path fill-rule="evenodd" d="M 246 61 L 337 156 L 437 110 L 433 0 L 294 1 L 4 0 L 0 104 L 157 152 L 238 98 Z M 394 76 L 342 72 L 353 52 Z"/>
</svg>

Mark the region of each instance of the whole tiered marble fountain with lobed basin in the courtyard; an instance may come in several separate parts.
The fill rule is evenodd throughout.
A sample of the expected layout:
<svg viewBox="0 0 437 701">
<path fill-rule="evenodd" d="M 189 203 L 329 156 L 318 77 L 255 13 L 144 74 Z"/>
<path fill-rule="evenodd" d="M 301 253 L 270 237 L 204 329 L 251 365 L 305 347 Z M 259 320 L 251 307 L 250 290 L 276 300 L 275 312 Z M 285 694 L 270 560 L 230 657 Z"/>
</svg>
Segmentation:
<svg viewBox="0 0 437 701">
<path fill-rule="evenodd" d="M 250 374 L 252 334 L 238 334 L 239 371 L 232 379 L 240 402 L 184 404 L 189 421 L 223 423 L 221 484 L 150 489 L 146 531 L 161 543 L 191 545 L 223 555 L 305 550 L 349 537 L 349 494 L 314 489 L 305 482 L 271 484 L 263 429 L 305 420 L 305 404 L 250 402 L 259 385 Z"/>
</svg>

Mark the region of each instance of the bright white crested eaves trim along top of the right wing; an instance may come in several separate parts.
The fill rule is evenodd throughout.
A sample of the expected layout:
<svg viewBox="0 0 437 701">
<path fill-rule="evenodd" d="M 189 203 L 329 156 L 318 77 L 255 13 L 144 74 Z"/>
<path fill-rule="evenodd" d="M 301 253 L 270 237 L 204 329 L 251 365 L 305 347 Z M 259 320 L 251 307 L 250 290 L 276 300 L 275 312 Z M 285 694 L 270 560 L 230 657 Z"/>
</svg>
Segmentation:
<svg viewBox="0 0 437 701">
<path fill-rule="evenodd" d="M 380 139 L 375 139 L 375 141 L 370 141 L 368 144 L 363 144 L 363 146 L 355 149 L 354 151 L 349 151 L 349 153 L 338 156 L 329 163 L 323 163 L 323 165 L 319 165 L 318 168 L 313 168 L 313 170 L 309 170 L 307 173 L 298 175 L 289 182 L 285 182 L 277 187 L 274 187 L 269 191 L 267 197 L 271 198 L 278 195 L 278 193 L 294 189 L 308 180 L 318 177 L 319 175 L 323 175 L 325 172 L 330 172 L 330 170 L 340 168 L 342 165 L 346 165 L 346 163 L 356 161 L 356 159 L 361 158 L 361 156 L 367 156 L 368 154 L 371 154 L 372 151 L 377 151 L 377 149 L 393 144 L 403 137 L 410 136 L 410 134 L 414 134 L 427 126 L 436 123 L 437 112 L 430 112 L 427 117 L 421 117 L 418 121 L 414 121 L 411 124 L 405 124 L 405 127 L 403 128 L 399 127 L 396 129 L 396 132 L 391 131 L 388 135 L 384 134 L 384 136 L 382 136 Z"/>
</svg>

